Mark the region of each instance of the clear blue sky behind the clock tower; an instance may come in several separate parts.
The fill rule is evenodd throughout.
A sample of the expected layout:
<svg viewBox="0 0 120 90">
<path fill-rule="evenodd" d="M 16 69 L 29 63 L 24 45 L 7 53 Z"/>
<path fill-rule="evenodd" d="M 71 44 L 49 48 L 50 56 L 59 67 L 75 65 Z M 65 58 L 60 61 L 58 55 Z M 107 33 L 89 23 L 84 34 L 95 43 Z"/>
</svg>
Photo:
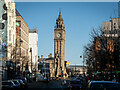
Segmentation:
<svg viewBox="0 0 120 90">
<path fill-rule="evenodd" d="M 118 17 L 117 2 L 16 2 L 29 29 L 38 29 L 38 55 L 54 56 L 54 26 L 61 9 L 65 25 L 65 60 L 82 65 L 90 32 Z"/>
</svg>

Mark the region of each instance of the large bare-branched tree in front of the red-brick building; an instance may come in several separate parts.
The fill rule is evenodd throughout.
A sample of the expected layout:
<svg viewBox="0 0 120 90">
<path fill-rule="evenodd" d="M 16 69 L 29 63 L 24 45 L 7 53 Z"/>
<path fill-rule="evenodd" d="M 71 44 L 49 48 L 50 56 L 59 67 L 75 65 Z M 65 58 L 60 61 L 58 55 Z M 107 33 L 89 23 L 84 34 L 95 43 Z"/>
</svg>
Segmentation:
<svg viewBox="0 0 120 90">
<path fill-rule="evenodd" d="M 90 43 L 84 47 L 88 71 L 112 72 L 115 70 L 116 64 L 118 66 L 117 61 L 119 61 L 119 54 L 117 55 L 119 53 L 119 37 L 112 37 L 111 31 L 109 31 L 109 37 L 106 36 L 101 27 L 93 29 L 90 37 Z M 90 70 L 91 66 L 93 66 L 92 71 Z"/>
</svg>

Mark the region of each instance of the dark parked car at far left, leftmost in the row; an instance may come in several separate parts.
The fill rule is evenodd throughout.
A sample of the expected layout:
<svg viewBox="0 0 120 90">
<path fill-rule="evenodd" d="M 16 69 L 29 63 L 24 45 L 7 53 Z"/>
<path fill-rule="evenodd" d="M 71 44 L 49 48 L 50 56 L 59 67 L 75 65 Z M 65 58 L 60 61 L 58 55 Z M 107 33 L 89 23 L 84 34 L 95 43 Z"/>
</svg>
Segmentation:
<svg viewBox="0 0 120 90">
<path fill-rule="evenodd" d="M 2 90 L 17 88 L 13 81 L 2 81 Z"/>
</svg>

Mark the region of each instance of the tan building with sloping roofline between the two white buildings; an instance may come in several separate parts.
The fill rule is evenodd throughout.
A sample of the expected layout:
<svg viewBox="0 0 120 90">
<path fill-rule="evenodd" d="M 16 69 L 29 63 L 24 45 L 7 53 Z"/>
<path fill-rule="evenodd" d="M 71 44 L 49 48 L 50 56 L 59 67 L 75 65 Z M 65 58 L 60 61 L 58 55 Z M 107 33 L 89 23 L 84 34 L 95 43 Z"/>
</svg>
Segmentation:
<svg viewBox="0 0 120 90">
<path fill-rule="evenodd" d="M 29 27 L 21 14 L 16 10 L 16 22 L 17 27 L 16 28 L 16 36 L 17 36 L 17 61 L 19 61 L 20 64 L 20 71 L 24 72 L 28 68 L 29 64 Z M 18 29 L 19 28 L 19 29 Z"/>
</svg>

